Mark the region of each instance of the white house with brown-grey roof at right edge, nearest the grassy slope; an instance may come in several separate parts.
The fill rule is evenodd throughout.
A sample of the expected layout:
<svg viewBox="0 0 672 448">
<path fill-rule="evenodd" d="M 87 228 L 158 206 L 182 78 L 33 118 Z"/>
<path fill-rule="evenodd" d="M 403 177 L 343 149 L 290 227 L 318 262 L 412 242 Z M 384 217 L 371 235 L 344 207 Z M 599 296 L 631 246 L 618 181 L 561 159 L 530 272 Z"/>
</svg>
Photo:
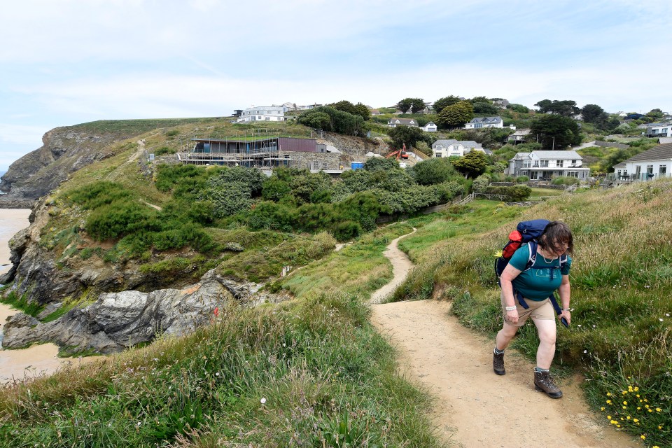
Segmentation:
<svg viewBox="0 0 672 448">
<path fill-rule="evenodd" d="M 654 146 L 614 166 L 616 179 L 647 181 L 670 177 L 672 173 L 672 143 Z"/>
</svg>

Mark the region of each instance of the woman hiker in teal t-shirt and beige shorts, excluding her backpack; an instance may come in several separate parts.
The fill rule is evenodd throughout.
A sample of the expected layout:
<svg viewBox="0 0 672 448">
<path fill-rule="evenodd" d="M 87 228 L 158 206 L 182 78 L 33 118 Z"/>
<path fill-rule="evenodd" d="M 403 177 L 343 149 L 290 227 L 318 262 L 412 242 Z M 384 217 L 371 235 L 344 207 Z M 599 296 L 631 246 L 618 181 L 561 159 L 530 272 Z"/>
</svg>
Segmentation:
<svg viewBox="0 0 672 448">
<path fill-rule="evenodd" d="M 555 355 L 556 337 L 556 313 L 549 296 L 555 290 L 559 290 L 562 306 L 559 318 L 565 318 L 569 324 L 572 318 L 569 310 L 569 269 L 572 259 L 566 254 L 572 251 L 573 238 L 568 225 L 552 221 L 538 238 L 537 255 L 531 268 L 526 269 L 530 260 L 530 249 L 527 244 L 523 244 L 514 253 L 500 276 L 504 325 L 497 333 L 493 370 L 498 375 L 505 374 L 504 349 L 518 328 L 524 325 L 528 318 L 532 318 L 539 335 L 534 386 L 536 390 L 546 393 L 550 398 L 561 398 L 562 391 L 549 373 Z M 565 257 L 566 262 L 561 263 Z M 521 302 L 526 303 L 528 307 L 525 308 Z"/>
</svg>

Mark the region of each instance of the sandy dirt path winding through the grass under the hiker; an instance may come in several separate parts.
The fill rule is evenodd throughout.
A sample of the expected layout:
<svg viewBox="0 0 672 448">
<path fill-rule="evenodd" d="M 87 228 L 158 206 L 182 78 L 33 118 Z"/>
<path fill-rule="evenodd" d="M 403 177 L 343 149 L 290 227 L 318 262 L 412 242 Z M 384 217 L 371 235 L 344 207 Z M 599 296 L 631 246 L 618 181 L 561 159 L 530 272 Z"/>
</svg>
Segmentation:
<svg viewBox="0 0 672 448">
<path fill-rule="evenodd" d="M 391 248 L 387 253 L 395 254 Z M 400 263 L 395 255 L 391 261 Z M 407 258 L 405 265 L 412 267 Z M 395 269 L 393 283 L 398 285 L 403 278 L 396 274 Z M 449 302 L 396 302 L 372 308 L 372 322 L 400 351 L 403 373 L 437 398 L 433 419 L 454 446 L 642 446 L 598 423 L 584 402 L 580 377 L 561 381 L 564 397 L 551 400 L 534 390 L 533 364 L 512 349 L 507 350 L 507 373 L 498 377 L 492 371 L 493 340 L 460 325 Z"/>
</svg>

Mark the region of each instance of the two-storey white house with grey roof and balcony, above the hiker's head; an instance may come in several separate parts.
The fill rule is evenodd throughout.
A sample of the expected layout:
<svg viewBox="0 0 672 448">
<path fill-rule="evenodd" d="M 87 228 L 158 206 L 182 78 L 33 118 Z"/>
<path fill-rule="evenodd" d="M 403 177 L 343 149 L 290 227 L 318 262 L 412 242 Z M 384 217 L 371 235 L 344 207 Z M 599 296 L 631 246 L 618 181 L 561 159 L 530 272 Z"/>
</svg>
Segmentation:
<svg viewBox="0 0 672 448">
<path fill-rule="evenodd" d="M 531 180 L 549 180 L 557 176 L 586 179 L 590 169 L 584 168 L 582 162 L 582 157 L 576 151 L 517 153 L 509 160 L 507 174 L 528 176 Z"/>
</svg>

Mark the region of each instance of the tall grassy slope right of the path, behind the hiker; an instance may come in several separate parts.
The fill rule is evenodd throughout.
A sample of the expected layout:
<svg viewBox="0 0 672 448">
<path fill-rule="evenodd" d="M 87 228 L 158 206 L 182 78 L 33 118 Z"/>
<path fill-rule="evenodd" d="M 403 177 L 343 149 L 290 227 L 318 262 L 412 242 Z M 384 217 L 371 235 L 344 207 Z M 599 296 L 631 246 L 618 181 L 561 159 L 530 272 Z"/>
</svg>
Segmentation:
<svg viewBox="0 0 672 448">
<path fill-rule="evenodd" d="M 428 228 L 419 230 L 417 237 L 403 244 L 412 255 L 414 246 L 423 247 L 425 255 L 416 255 L 419 268 L 401 286 L 398 298 L 450 298 L 465 325 L 496 332 L 501 311 L 494 253 L 518 221 L 565 221 L 575 237 L 570 272 L 573 318 L 569 330 L 559 330 L 555 364 L 584 369 L 591 380 L 588 396 L 596 409 L 605 408 L 601 412 L 609 421 L 606 416 L 614 417 L 618 411 L 617 423 L 612 425 L 645 435 L 647 444 L 672 446 L 671 199 L 672 183 L 659 181 L 558 197 L 492 230 L 460 236 L 457 228 L 447 242 L 430 246 Z M 489 206 L 473 203 L 471 207 Z M 474 213 L 465 213 L 455 222 Z M 495 220 L 498 216 L 493 214 Z M 538 345 L 534 329 L 521 331 L 514 345 L 533 358 Z M 607 393 L 636 395 L 627 386 L 636 386 L 640 398 L 648 401 L 637 409 L 629 407 L 632 400 L 629 405 L 623 405 L 628 400 L 622 398 L 611 400 L 610 410 Z M 615 403 L 620 407 L 615 409 Z M 621 424 L 621 416 L 632 423 L 636 412 L 640 412 L 638 425 Z"/>
</svg>

